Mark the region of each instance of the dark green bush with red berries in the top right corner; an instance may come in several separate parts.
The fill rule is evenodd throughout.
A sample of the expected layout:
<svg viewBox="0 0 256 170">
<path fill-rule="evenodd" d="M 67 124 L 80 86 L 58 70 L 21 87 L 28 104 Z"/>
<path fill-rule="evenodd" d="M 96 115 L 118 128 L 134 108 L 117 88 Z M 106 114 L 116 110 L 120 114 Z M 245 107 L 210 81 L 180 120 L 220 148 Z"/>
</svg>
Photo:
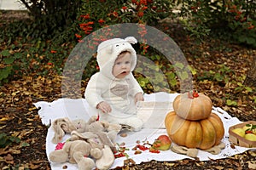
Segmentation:
<svg viewBox="0 0 256 170">
<path fill-rule="evenodd" d="M 212 33 L 256 47 L 256 3 L 245 0 L 184 0 L 181 16 L 191 36 Z"/>
</svg>

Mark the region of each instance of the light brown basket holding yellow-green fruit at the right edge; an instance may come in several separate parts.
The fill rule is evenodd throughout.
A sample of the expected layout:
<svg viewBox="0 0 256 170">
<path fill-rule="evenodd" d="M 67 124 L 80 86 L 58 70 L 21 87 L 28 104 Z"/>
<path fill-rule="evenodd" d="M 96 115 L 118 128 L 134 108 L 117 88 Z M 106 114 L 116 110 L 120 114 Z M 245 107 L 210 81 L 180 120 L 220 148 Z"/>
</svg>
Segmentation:
<svg viewBox="0 0 256 170">
<path fill-rule="evenodd" d="M 230 143 L 236 144 L 236 145 L 242 146 L 242 147 L 247 147 L 247 148 L 254 148 L 254 147 L 256 147 L 256 141 L 247 140 L 245 138 L 242 138 L 238 134 L 232 132 L 233 129 L 235 129 L 235 128 L 242 128 L 242 127 L 244 127 L 247 124 L 256 125 L 256 122 L 255 121 L 248 121 L 248 122 L 243 122 L 243 123 L 240 123 L 240 124 L 237 124 L 235 126 L 230 127 L 230 129 L 229 129 Z"/>
</svg>

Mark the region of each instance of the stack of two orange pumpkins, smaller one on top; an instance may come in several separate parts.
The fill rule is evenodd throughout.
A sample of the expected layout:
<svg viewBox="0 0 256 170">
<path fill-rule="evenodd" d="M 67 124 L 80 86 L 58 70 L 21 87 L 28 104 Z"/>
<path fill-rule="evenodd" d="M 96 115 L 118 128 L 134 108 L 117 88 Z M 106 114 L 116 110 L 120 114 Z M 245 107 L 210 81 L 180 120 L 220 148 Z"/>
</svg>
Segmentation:
<svg viewBox="0 0 256 170">
<path fill-rule="evenodd" d="M 212 100 L 191 91 L 180 94 L 173 101 L 174 111 L 166 115 L 166 131 L 172 141 L 188 148 L 207 150 L 220 144 L 224 125 L 212 113 Z"/>
</svg>

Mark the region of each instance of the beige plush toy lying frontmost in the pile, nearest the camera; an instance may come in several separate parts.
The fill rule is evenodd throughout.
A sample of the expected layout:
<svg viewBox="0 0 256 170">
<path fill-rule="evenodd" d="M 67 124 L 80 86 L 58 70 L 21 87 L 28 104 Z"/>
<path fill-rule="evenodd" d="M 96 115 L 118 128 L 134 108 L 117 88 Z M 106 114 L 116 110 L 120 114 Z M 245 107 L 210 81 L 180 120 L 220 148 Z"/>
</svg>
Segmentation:
<svg viewBox="0 0 256 170">
<path fill-rule="evenodd" d="M 91 170 L 94 167 L 100 170 L 109 169 L 114 161 L 112 150 L 108 145 L 93 143 L 94 140 L 88 140 L 88 142 L 84 140 L 69 141 L 61 150 L 50 152 L 49 161 L 77 163 L 79 170 Z"/>
</svg>

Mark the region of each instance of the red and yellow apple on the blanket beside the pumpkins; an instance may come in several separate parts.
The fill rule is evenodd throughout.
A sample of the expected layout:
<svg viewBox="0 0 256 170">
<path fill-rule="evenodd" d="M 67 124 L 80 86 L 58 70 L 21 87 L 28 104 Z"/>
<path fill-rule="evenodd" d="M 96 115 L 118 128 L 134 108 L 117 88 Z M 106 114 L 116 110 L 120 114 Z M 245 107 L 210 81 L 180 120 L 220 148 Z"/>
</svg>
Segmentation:
<svg viewBox="0 0 256 170">
<path fill-rule="evenodd" d="M 171 144 L 171 139 L 166 134 L 162 134 L 154 140 L 151 147 L 153 147 L 155 150 L 169 150 Z"/>
</svg>

